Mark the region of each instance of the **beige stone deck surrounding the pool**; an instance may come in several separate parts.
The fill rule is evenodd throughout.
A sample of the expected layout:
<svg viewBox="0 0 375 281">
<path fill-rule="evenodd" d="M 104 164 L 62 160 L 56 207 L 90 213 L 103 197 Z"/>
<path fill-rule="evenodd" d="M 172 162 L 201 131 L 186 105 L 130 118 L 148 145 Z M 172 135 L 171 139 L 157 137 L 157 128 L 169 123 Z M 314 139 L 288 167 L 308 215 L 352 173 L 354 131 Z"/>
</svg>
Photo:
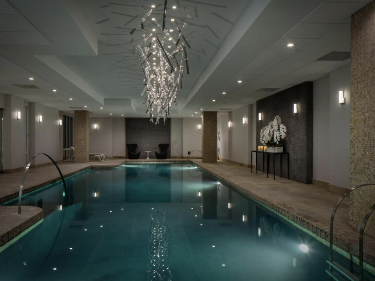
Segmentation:
<svg viewBox="0 0 375 281">
<path fill-rule="evenodd" d="M 64 176 L 71 176 L 81 171 L 93 169 L 111 169 L 126 163 L 140 162 L 173 162 L 187 163 L 188 159 L 168 160 L 128 160 L 111 159 L 108 161 L 90 162 L 86 164 L 61 163 L 59 164 Z M 266 207 L 276 211 L 292 223 L 309 230 L 312 234 L 321 239 L 329 240 L 329 224 L 332 209 L 340 198 L 340 194 L 334 193 L 323 187 L 306 185 L 285 178 L 276 176 L 276 180 L 266 174 L 258 172 L 251 173 L 251 169 L 240 167 L 218 161 L 217 164 L 202 163 L 201 160 L 191 160 L 197 166 L 212 173 L 223 184 L 232 186 L 240 192 L 249 195 Z M 23 173 L 0 175 L 0 203 L 6 202 L 18 196 L 19 184 Z M 59 175 L 54 166 L 45 166 L 37 169 L 30 169 L 27 175 L 24 193 L 39 189 L 59 180 Z M 6 214 L 4 206 L 0 206 L 1 225 L 3 227 L 19 228 L 21 220 L 14 218 L 16 207 L 12 212 Z M 24 207 L 22 207 L 24 209 Z M 37 208 L 36 208 L 37 209 Z M 9 211 L 9 210 L 7 210 Z M 27 210 L 25 209 L 25 214 Z M 30 215 L 33 212 L 30 210 Z M 36 215 L 34 213 L 35 222 Z M 9 219 L 2 219 L 8 216 Z M 40 219 L 39 219 L 40 220 Z M 0 228 L 0 236 L 1 236 Z M 25 230 L 25 229 L 24 229 Z M 14 232 L 16 233 L 16 231 Z M 19 234 L 19 233 L 18 233 Z M 14 236 L 15 237 L 15 236 Z M 14 238 L 12 237 L 12 238 Z M 1 241 L 1 238 L 0 238 Z M 349 202 L 343 202 L 336 213 L 334 228 L 334 243 L 341 249 L 358 256 L 359 233 L 349 226 Z M 1 246 L 1 244 L 0 244 Z M 365 261 L 375 266 L 375 240 L 365 238 Z"/>
</svg>

